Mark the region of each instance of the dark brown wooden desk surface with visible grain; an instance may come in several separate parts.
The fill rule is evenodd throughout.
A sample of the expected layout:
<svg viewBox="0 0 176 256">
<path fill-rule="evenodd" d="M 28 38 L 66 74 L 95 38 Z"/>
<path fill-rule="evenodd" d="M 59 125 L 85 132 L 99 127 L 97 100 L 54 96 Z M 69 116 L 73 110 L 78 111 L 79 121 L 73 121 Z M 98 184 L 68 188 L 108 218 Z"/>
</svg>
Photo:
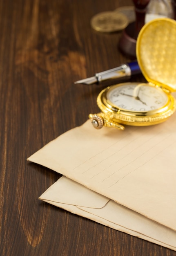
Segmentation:
<svg viewBox="0 0 176 256">
<path fill-rule="evenodd" d="M 176 256 L 41 202 L 38 197 L 61 175 L 26 161 L 98 110 L 103 87 L 74 81 L 129 60 L 117 49 L 121 32 L 102 34 L 89 22 L 96 13 L 131 4 L 0 1 L 1 256 Z"/>
</svg>

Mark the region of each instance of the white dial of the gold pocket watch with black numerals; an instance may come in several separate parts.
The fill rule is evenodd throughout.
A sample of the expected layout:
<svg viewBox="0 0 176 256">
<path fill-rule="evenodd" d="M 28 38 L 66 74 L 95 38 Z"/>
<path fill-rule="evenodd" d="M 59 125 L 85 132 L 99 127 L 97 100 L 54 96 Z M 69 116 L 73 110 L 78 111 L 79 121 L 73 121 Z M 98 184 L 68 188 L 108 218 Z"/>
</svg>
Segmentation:
<svg viewBox="0 0 176 256">
<path fill-rule="evenodd" d="M 136 112 L 157 110 L 168 102 L 168 96 L 162 89 L 146 83 L 112 86 L 106 97 L 110 105 Z"/>
</svg>

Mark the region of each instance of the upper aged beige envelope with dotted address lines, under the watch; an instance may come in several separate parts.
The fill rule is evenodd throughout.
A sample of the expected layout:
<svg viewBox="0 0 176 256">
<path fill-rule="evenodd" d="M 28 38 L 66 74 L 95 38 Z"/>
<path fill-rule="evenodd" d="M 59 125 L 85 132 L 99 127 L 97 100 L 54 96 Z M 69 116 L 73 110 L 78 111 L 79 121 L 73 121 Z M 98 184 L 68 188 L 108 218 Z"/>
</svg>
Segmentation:
<svg viewBox="0 0 176 256">
<path fill-rule="evenodd" d="M 28 160 L 176 231 L 175 127 L 174 115 L 163 124 L 124 131 L 96 130 L 87 121 Z"/>
</svg>

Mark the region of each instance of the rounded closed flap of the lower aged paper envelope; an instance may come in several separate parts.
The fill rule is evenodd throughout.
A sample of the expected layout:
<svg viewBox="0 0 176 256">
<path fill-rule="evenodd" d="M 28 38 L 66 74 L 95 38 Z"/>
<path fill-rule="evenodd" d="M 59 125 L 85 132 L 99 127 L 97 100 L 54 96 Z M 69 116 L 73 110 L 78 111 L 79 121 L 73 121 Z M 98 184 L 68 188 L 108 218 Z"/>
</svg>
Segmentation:
<svg viewBox="0 0 176 256">
<path fill-rule="evenodd" d="M 50 186 L 39 199 L 96 209 L 104 207 L 109 201 L 109 198 L 91 191 L 65 176 Z"/>
</svg>

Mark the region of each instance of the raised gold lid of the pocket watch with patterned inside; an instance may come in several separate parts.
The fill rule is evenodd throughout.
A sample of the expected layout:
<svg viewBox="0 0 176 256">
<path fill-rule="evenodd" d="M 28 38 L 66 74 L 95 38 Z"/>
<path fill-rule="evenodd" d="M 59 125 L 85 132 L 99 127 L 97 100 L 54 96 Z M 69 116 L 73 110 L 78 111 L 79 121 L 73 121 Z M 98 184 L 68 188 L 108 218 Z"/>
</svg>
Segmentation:
<svg viewBox="0 0 176 256">
<path fill-rule="evenodd" d="M 146 23 L 136 42 L 136 56 L 148 82 L 176 91 L 176 21 L 158 18 Z"/>
</svg>

